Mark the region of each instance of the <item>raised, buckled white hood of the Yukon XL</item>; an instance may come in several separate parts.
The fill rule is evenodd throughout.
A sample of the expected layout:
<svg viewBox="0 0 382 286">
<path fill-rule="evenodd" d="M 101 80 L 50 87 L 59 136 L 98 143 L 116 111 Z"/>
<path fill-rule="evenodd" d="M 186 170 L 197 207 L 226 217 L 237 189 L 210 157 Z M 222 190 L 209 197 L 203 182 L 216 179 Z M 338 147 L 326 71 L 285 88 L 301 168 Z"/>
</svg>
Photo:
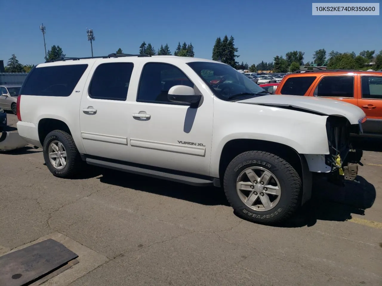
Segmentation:
<svg viewBox="0 0 382 286">
<path fill-rule="evenodd" d="M 349 120 L 350 124 L 358 124 L 359 119 L 363 119 L 366 116 L 365 112 L 354 104 L 340 100 L 317 98 L 312 96 L 264 95 L 237 102 L 275 107 L 291 106 L 325 115 L 343 116 Z"/>
</svg>

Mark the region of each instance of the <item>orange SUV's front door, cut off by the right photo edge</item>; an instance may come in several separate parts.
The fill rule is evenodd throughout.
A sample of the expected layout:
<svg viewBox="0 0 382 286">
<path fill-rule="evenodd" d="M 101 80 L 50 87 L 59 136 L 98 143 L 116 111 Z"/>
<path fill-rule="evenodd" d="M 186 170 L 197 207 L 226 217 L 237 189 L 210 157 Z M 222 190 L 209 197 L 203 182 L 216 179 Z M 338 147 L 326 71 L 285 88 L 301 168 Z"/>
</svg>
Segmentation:
<svg viewBox="0 0 382 286">
<path fill-rule="evenodd" d="M 362 124 L 365 133 L 382 133 L 382 76 L 361 76 L 358 106 L 367 120 Z"/>
</svg>

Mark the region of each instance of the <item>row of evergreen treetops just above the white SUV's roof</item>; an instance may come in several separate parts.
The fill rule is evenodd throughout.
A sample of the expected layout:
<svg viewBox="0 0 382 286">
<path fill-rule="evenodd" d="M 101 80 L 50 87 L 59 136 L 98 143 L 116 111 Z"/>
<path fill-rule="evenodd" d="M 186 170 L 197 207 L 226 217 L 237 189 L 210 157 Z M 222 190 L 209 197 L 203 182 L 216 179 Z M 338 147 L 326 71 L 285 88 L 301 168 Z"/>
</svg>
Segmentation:
<svg viewBox="0 0 382 286">
<path fill-rule="evenodd" d="M 121 49 L 119 49 L 121 50 Z M 118 51 L 119 51 L 118 50 Z M 117 51 L 117 53 L 118 53 Z M 122 50 L 121 50 L 122 53 Z M 158 50 L 155 50 L 155 48 L 151 45 L 151 43 L 146 44 L 146 42 L 143 42 L 139 46 L 139 54 L 140 55 L 150 55 L 150 56 L 171 56 L 172 53 L 170 51 L 170 47 L 168 47 L 168 44 L 163 47 L 163 45 L 160 45 L 160 48 Z M 188 45 L 186 42 L 183 43 L 183 45 L 178 43 L 178 46 L 176 47 L 176 50 L 174 51 L 174 56 L 187 56 L 193 58 L 195 55 L 194 53 L 194 47 L 192 43 L 189 43 Z"/>
</svg>

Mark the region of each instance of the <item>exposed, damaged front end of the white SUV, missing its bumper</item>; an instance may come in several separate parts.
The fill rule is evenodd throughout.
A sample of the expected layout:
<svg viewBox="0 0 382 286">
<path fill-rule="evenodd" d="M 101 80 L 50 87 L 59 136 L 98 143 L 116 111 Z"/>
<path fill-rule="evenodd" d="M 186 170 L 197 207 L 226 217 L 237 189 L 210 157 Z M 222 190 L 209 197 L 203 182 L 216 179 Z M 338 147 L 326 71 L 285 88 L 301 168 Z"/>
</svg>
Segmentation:
<svg viewBox="0 0 382 286">
<path fill-rule="evenodd" d="M 358 164 L 362 165 L 362 150 L 353 149 L 350 133 L 362 133 L 362 120 L 359 124 L 350 125 L 345 117 L 329 116 L 326 130 L 330 154 L 325 155 L 325 164 L 332 168 L 331 179 L 342 182 L 343 179 L 353 181 L 358 174 Z"/>
</svg>

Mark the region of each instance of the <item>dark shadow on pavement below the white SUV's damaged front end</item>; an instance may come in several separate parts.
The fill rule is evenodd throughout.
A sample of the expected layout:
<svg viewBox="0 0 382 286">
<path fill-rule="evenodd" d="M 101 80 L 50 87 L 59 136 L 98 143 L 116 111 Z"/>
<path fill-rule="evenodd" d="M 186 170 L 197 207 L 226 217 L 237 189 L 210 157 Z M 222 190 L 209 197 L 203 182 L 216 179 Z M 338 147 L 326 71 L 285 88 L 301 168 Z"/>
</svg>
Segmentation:
<svg viewBox="0 0 382 286">
<path fill-rule="evenodd" d="M 357 182 L 345 182 L 336 186 L 326 180 L 315 178 L 312 199 L 304 205 L 287 223 L 278 227 L 311 227 L 317 220 L 343 222 L 352 214 L 364 215 L 376 199 L 374 185 L 358 176 Z"/>
</svg>

